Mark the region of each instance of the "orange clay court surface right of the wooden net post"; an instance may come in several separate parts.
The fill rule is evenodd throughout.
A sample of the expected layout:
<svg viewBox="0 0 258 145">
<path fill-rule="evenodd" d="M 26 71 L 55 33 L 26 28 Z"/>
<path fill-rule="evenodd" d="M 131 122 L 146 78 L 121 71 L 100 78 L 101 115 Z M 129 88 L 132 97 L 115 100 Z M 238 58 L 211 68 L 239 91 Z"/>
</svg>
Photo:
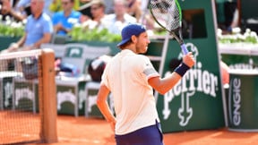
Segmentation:
<svg viewBox="0 0 258 145">
<path fill-rule="evenodd" d="M 51 145 L 116 145 L 109 124 L 100 118 L 57 116 L 58 142 Z M 164 134 L 165 145 L 255 145 L 258 132 L 230 132 L 227 128 Z M 41 145 L 47 145 L 41 143 Z"/>
</svg>

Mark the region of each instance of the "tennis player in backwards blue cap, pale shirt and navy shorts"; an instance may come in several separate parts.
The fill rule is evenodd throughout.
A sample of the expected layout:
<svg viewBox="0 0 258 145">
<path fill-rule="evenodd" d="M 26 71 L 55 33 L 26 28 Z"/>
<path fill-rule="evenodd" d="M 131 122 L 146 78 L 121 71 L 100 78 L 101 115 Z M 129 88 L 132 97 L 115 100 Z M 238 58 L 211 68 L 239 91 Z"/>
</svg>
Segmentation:
<svg viewBox="0 0 258 145">
<path fill-rule="evenodd" d="M 163 145 L 163 134 L 153 90 L 166 93 L 175 86 L 193 64 L 193 55 L 184 56 L 174 73 L 161 79 L 145 53 L 150 44 L 141 24 L 129 24 L 122 30 L 121 49 L 107 64 L 102 75 L 97 105 L 116 134 L 116 145 Z M 112 92 L 115 115 L 107 104 Z"/>
</svg>

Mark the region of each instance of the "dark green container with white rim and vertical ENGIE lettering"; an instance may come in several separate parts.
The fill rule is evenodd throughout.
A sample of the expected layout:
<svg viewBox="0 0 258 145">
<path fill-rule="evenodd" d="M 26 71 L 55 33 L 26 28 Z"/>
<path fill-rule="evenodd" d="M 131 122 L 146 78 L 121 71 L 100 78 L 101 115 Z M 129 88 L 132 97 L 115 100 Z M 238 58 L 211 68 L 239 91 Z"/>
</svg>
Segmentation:
<svg viewBox="0 0 258 145">
<path fill-rule="evenodd" d="M 228 129 L 238 132 L 258 132 L 258 71 L 230 70 Z"/>
</svg>

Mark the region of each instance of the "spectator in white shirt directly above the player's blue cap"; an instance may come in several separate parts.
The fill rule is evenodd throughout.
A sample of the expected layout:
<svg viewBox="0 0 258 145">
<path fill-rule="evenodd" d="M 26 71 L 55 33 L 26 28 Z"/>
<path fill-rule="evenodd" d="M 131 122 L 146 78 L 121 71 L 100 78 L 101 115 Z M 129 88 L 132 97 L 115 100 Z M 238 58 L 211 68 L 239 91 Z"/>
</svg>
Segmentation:
<svg viewBox="0 0 258 145">
<path fill-rule="evenodd" d="M 110 33 L 120 34 L 125 25 L 136 22 L 136 19 L 127 13 L 127 3 L 125 1 L 115 0 L 114 12 L 115 13 L 108 14 L 107 17 L 103 19 L 104 27 L 107 28 Z"/>
</svg>

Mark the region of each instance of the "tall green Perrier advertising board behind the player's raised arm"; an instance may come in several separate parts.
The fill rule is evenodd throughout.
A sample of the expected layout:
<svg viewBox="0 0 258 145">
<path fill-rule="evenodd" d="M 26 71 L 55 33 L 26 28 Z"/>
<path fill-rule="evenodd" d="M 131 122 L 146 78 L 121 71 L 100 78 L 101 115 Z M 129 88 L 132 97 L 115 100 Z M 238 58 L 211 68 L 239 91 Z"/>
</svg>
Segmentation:
<svg viewBox="0 0 258 145">
<path fill-rule="evenodd" d="M 196 64 L 176 86 L 157 98 L 163 132 L 217 129 L 227 124 L 219 73 L 216 16 L 212 0 L 178 0 L 183 10 L 185 45 Z M 185 26 L 184 26 L 185 25 Z M 169 39 L 162 77 L 172 70 L 173 58 L 181 59 L 175 39 Z"/>
</svg>

